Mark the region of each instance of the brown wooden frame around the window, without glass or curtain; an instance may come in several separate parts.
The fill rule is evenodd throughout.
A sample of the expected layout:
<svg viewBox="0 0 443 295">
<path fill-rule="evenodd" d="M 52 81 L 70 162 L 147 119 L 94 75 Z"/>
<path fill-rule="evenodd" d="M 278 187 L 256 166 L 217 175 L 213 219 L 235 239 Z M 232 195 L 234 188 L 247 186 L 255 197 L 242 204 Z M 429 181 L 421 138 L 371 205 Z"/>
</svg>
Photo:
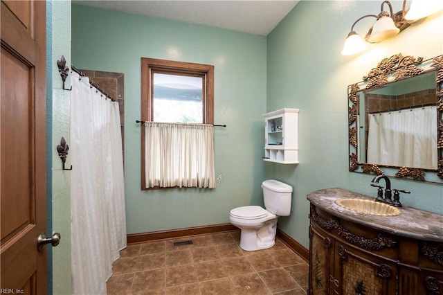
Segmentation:
<svg viewBox="0 0 443 295">
<path fill-rule="evenodd" d="M 202 114 L 204 124 L 214 124 L 214 66 L 175 60 L 141 57 L 141 120 L 154 119 L 154 73 L 203 77 Z M 145 185 L 145 132 L 141 132 L 141 189 Z"/>
</svg>

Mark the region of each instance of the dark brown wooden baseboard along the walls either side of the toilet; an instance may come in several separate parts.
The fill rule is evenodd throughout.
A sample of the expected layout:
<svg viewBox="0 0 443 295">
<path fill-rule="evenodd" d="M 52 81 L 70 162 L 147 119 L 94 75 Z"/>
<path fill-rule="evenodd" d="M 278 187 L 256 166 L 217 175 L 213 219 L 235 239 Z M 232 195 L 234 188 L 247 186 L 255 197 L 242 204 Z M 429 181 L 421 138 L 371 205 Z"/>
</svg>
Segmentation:
<svg viewBox="0 0 443 295">
<path fill-rule="evenodd" d="M 150 233 L 132 233 L 127 235 L 127 244 L 138 244 L 156 240 L 183 238 L 189 235 L 206 235 L 208 233 L 222 233 L 224 231 L 238 231 L 237 226 L 230 223 L 213 224 L 207 226 L 189 227 L 186 229 L 172 229 L 169 231 L 152 231 Z M 309 261 L 309 250 L 289 235 L 277 229 L 277 236 L 292 251 L 298 253 L 304 260 Z"/>
</svg>

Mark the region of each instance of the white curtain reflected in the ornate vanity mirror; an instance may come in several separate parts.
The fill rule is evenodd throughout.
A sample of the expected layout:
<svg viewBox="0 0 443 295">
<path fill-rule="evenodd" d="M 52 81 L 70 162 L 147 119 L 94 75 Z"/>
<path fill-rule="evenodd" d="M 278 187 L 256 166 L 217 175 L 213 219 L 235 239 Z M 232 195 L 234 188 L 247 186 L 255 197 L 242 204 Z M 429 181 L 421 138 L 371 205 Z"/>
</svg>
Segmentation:
<svg viewBox="0 0 443 295">
<path fill-rule="evenodd" d="M 368 163 L 437 169 L 435 106 L 371 114 Z"/>
</svg>

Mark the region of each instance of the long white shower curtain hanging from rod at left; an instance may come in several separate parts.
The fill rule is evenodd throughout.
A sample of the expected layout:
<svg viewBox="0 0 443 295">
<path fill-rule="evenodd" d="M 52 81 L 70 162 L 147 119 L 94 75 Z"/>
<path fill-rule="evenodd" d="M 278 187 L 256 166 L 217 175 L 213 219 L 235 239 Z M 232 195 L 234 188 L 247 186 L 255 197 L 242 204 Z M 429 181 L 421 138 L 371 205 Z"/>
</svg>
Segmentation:
<svg viewBox="0 0 443 295">
<path fill-rule="evenodd" d="M 112 262 L 126 247 L 118 103 L 71 75 L 71 269 L 73 294 L 106 294 Z"/>
</svg>

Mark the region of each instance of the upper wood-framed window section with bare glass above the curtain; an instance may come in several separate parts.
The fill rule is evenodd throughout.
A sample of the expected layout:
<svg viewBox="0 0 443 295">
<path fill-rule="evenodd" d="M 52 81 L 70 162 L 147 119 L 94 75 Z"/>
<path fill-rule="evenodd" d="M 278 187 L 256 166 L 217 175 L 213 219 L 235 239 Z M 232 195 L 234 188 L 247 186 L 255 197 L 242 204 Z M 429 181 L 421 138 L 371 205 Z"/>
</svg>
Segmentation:
<svg viewBox="0 0 443 295">
<path fill-rule="evenodd" d="M 142 120 L 214 123 L 214 66 L 141 59 Z"/>
</svg>

